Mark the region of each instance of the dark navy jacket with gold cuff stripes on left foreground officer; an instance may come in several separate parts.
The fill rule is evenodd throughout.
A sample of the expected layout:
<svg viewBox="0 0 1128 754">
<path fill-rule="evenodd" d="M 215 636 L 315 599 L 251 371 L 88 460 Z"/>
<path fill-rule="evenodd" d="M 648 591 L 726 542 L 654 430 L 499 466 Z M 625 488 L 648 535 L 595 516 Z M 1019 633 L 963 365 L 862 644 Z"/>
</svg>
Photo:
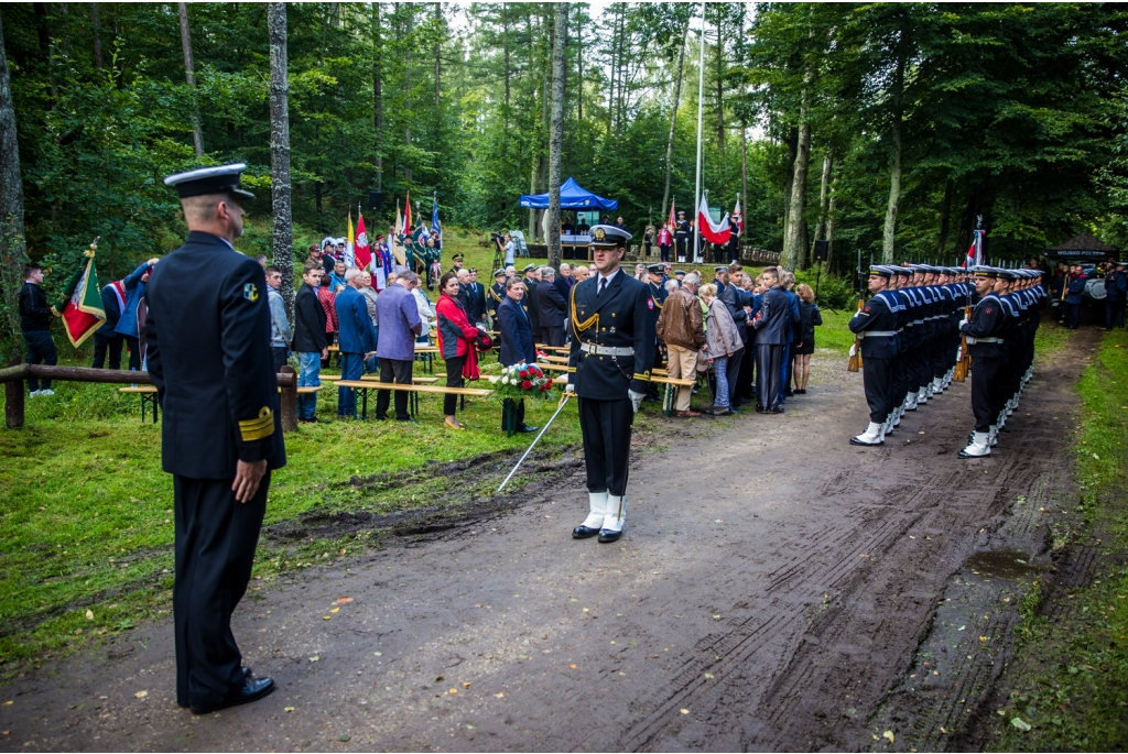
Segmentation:
<svg viewBox="0 0 1128 754">
<path fill-rule="evenodd" d="M 165 471 L 230 479 L 236 461 L 285 465 L 266 277 L 254 257 L 193 231 L 153 267 L 146 298 Z"/>
</svg>

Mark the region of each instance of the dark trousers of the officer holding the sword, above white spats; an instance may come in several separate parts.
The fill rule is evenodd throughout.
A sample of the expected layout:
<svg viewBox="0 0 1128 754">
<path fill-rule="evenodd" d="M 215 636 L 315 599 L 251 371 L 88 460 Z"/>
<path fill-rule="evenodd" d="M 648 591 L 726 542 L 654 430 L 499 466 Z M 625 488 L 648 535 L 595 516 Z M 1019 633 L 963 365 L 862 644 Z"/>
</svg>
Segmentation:
<svg viewBox="0 0 1128 754">
<path fill-rule="evenodd" d="M 627 458 L 631 454 L 631 399 L 580 398 L 580 429 L 588 465 L 588 491 L 622 496 L 627 491 Z"/>
</svg>

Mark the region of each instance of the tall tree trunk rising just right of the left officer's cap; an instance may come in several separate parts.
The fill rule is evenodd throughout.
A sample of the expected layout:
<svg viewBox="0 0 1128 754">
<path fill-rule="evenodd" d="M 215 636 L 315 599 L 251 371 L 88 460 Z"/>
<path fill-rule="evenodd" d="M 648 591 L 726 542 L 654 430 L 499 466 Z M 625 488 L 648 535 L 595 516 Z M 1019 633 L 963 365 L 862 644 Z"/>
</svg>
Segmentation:
<svg viewBox="0 0 1128 754">
<path fill-rule="evenodd" d="M 282 300 L 293 321 L 293 220 L 290 212 L 290 85 L 287 81 L 285 3 L 266 6 L 271 47 L 271 203 L 274 228 L 271 248 L 282 270 Z"/>
</svg>

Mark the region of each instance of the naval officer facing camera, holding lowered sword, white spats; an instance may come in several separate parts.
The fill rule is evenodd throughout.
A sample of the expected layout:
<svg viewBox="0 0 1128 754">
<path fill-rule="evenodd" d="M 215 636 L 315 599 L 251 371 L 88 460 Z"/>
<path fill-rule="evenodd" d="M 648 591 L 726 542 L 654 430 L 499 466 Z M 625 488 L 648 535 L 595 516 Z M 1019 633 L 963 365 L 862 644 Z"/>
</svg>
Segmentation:
<svg viewBox="0 0 1128 754">
<path fill-rule="evenodd" d="M 650 384 L 654 317 L 649 286 L 619 269 L 631 233 L 591 229 L 597 274 L 572 287 L 567 390 L 580 399 L 589 513 L 575 539 L 614 542 L 626 521 L 631 425 Z"/>
</svg>

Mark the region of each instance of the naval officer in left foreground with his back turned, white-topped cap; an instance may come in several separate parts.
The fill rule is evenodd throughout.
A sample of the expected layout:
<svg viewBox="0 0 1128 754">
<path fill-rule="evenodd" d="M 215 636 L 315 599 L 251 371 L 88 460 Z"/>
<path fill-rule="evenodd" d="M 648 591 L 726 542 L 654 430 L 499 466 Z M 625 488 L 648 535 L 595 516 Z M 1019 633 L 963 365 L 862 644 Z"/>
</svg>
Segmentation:
<svg viewBox="0 0 1128 754">
<path fill-rule="evenodd" d="M 149 278 L 149 374 L 165 409 L 161 463 L 176 507 L 176 700 L 213 712 L 265 697 L 243 667 L 231 612 L 250 579 L 271 470 L 285 465 L 266 278 L 231 246 L 243 234 L 244 165 L 175 185 L 187 241 Z"/>
</svg>

